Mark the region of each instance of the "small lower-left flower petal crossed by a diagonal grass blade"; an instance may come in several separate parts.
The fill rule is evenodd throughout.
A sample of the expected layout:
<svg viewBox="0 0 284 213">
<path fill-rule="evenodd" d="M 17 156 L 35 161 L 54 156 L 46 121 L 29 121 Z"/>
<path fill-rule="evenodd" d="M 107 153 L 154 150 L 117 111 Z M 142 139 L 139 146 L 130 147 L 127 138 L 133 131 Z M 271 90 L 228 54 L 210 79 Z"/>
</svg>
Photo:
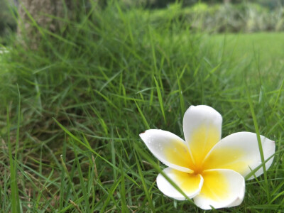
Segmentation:
<svg viewBox="0 0 284 213">
<path fill-rule="evenodd" d="M 163 170 L 165 175 L 173 180 L 180 190 L 187 195 L 187 197 L 192 198 L 200 193 L 203 184 L 203 178 L 201 175 L 195 175 L 190 173 L 183 173 L 179 170 L 172 168 L 165 168 Z M 159 174 L 157 177 L 157 185 L 161 192 L 163 192 L 168 197 L 172 197 L 175 200 L 185 200 L 185 197 L 178 192 L 178 190 L 173 187 L 173 185 L 166 180 L 163 175 Z"/>
</svg>

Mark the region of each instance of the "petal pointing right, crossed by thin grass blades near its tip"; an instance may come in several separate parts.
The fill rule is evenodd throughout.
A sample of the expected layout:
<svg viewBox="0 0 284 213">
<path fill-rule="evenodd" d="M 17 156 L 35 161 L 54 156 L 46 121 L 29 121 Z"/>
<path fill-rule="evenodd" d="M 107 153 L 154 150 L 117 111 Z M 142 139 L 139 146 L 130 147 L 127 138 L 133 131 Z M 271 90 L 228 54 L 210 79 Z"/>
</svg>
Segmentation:
<svg viewBox="0 0 284 213">
<path fill-rule="evenodd" d="M 275 153 L 274 141 L 261 136 L 261 144 L 265 160 Z M 273 158 L 266 162 L 266 169 L 271 166 Z M 251 173 L 258 165 L 261 165 L 261 155 L 258 149 L 256 133 L 233 133 L 216 144 L 206 160 L 203 168 L 206 169 L 231 169 L 244 177 Z M 263 168 L 256 171 L 255 175 L 261 175 Z M 253 176 L 251 177 L 251 179 Z"/>
</svg>

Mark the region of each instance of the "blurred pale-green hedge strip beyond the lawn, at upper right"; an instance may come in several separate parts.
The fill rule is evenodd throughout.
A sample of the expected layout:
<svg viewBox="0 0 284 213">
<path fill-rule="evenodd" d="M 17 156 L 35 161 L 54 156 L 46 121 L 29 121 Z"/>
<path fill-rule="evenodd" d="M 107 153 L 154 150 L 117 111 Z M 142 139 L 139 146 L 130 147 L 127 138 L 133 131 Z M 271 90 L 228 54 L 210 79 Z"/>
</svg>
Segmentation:
<svg viewBox="0 0 284 213">
<path fill-rule="evenodd" d="M 207 33 L 283 31 L 283 8 L 270 11 L 259 4 L 197 3 L 191 7 L 170 5 L 172 17 L 185 22 L 192 31 Z M 163 23 L 169 9 L 159 10 L 153 22 Z"/>
</svg>

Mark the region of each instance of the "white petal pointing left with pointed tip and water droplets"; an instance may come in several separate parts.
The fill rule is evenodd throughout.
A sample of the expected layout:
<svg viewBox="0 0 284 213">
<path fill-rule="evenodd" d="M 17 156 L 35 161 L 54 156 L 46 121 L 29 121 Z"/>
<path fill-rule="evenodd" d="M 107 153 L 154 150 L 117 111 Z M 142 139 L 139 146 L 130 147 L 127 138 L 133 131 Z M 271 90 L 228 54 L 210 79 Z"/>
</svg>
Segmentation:
<svg viewBox="0 0 284 213">
<path fill-rule="evenodd" d="M 193 173 L 190 153 L 182 138 L 160 129 L 150 129 L 139 136 L 162 163 L 185 173 Z"/>
</svg>

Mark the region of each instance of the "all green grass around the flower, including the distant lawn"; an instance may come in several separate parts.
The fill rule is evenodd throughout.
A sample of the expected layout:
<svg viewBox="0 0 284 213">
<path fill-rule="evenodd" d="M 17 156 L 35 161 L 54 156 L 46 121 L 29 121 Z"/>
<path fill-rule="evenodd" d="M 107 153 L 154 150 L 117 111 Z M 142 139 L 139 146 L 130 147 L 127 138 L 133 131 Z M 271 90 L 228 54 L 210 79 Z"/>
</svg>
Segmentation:
<svg viewBox="0 0 284 213">
<path fill-rule="evenodd" d="M 117 4 L 86 16 L 0 56 L 0 212 L 203 212 L 163 196 L 165 165 L 138 136 L 183 137 L 192 104 L 222 114 L 222 137 L 259 131 L 277 146 L 244 202 L 212 212 L 283 212 L 281 33 L 197 35 Z"/>
</svg>

